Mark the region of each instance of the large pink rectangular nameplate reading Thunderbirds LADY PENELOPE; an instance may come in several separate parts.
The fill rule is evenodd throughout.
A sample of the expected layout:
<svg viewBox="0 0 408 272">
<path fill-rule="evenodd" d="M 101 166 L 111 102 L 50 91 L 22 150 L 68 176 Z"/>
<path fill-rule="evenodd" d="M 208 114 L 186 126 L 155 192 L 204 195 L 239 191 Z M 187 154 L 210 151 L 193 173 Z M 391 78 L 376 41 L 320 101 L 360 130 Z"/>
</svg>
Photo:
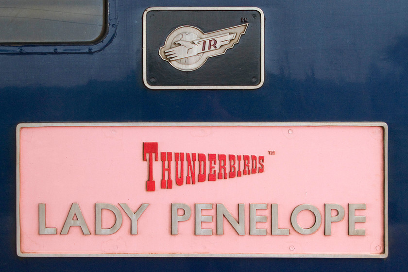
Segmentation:
<svg viewBox="0 0 408 272">
<path fill-rule="evenodd" d="M 19 256 L 388 255 L 385 123 L 17 126 Z"/>
</svg>

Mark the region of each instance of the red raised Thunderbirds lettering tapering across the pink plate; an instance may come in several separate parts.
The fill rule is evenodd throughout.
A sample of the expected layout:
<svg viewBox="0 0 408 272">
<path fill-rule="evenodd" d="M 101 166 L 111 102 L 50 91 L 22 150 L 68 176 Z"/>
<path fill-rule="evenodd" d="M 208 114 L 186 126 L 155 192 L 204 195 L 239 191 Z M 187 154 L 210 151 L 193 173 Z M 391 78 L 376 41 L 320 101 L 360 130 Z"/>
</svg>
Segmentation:
<svg viewBox="0 0 408 272">
<path fill-rule="evenodd" d="M 173 168 L 174 165 L 172 164 L 173 154 L 175 168 Z M 147 162 L 148 169 L 147 191 L 155 191 L 153 178 L 153 165 L 155 164 L 153 161 L 157 161 L 157 159 L 158 143 L 144 142 L 143 160 Z M 160 159 L 162 161 L 160 186 L 162 189 L 171 189 L 173 187 L 172 178 L 175 178 L 178 186 L 182 186 L 183 184 L 195 184 L 196 181 L 231 179 L 242 175 L 262 173 L 265 170 L 264 156 L 256 155 L 160 152 Z M 172 173 L 174 173 L 174 176 Z"/>
</svg>

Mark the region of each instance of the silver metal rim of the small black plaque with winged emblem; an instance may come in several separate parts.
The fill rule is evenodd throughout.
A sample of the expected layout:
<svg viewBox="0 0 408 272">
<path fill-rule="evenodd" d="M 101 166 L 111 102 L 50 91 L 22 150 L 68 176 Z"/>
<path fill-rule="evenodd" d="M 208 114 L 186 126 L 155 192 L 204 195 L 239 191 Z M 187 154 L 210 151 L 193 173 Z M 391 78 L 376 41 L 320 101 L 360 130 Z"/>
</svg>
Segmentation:
<svg viewBox="0 0 408 272">
<path fill-rule="evenodd" d="M 147 81 L 147 56 L 146 56 L 146 16 L 150 11 L 206 11 L 206 10 L 256 10 L 261 15 L 261 80 L 258 85 L 245 86 L 245 85 L 232 85 L 232 86 L 190 86 L 190 85 L 177 85 L 177 86 L 154 86 L 150 85 Z M 265 16 L 263 11 L 257 7 L 151 7 L 145 10 L 143 13 L 143 83 L 150 89 L 257 89 L 264 84 L 265 81 Z"/>
</svg>

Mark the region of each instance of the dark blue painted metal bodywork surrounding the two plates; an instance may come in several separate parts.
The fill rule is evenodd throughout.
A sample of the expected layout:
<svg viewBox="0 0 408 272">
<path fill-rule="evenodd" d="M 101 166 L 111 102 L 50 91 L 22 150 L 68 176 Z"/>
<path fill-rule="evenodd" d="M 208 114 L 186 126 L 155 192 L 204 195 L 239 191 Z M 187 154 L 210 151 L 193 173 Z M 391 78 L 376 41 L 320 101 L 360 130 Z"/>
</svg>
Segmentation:
<svg viewBox="0 0 408 272">
<path fill-rule="evenodd" d="M 115 2 L 115 1 L 112 1 Z M 407 271 L 408 2 L 117 0 L 115 38 L 86 54 L 0 55 L 1 271 Z M 153 91 L 142 82 L 150 6 L 257 6 L 265 84 L 257 90 Z M 20 258 L 19 122 L 384 121 L 389 125 L 389 257 Z"/>
</svg>

